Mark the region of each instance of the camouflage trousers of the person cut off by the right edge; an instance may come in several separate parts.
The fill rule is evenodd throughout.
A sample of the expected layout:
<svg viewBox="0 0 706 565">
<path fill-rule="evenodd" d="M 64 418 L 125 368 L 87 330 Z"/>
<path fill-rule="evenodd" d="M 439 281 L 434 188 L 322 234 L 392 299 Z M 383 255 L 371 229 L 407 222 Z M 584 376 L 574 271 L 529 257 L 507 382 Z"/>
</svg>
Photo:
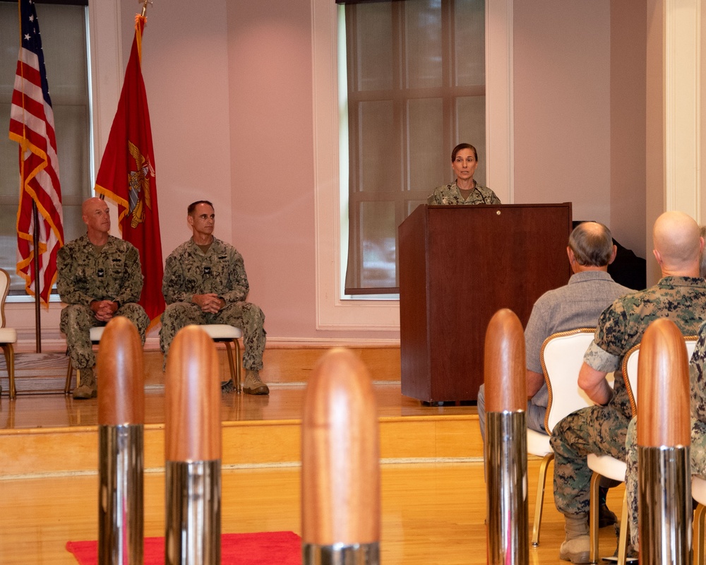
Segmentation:
<svg viewBox="0 0 706 565">
<path fill-rule="evenodd" d="M 635 551 L 640 551 L 638 540 L 638 420 L 630 420 L 628 427 L 628 473 L 626 489 L 628 491 L 628 510 L 630 511 L 630 543 Z M 706 423 L 691 420 L 691 474 L 706 479 Z"/>
</svg>

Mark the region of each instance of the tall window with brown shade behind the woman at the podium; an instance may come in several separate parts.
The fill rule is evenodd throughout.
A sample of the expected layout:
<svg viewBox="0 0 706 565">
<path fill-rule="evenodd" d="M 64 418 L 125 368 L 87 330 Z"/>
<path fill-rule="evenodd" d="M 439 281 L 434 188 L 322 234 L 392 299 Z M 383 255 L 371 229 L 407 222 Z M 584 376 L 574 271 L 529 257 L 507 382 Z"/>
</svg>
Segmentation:
<svg viewBox="0 0 706 565">
<path fill-rule="evenodd" d="M 484 12 L 483 0 L 339 8 L 347 66 L 339 84 L 348 121 L 346 295 L 399 292 L 397 227 L 436 186 L 453 181 L 457 143 L 477 148 L 475 178 L 486 184 Z"/>
</svg>

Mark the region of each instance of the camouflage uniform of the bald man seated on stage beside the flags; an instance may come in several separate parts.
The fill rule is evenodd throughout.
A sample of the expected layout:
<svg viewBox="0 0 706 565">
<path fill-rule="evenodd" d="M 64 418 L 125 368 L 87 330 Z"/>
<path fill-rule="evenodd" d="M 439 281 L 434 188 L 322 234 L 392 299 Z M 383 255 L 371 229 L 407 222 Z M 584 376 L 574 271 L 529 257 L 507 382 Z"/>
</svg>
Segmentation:
<svg viewBox="0 0 706 565">
<path fill-rule="evenodd" d="M 68 355 L 77 369 L 95 365 L 95 354 L 90 343 L 90 328 L 105 326 L 95 319 L 90 309 L 94 300 L 119 303 L 114 316 L 125 316 L 135 324 L 143 345 L 150 319 L 139 304 L 143 276 L 140 253 L 132 244 L 108 236 L 101 251 L 88 235 L 74 239 L 61 249 L 56 257 L 59 278 L 56 288 L 62 302 L 69 304 L 61 310 L 59 329 L 66 334 Z"/>
</svg>

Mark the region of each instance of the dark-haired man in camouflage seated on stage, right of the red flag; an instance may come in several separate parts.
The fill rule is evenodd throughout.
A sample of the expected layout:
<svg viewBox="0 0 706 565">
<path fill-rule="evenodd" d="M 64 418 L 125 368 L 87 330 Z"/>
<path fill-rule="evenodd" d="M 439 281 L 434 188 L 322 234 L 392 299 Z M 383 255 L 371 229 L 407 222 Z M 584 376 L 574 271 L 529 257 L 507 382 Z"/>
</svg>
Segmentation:
<svg viewBox="0 0 706 565">
<path fill-rule="evenodd" d="M 245 302 L 250 290 L 243 257 L 232 246 L 213 237 L 213 204 L 189 205 L 186 221 L 193 236 L 167 257 L 162 294 L 167 309 L 162 314 L 160 346 L 166 364 L 174 335 L 190 323 L 227 323 L 243 331 L 245 383 L 249 394 L 269 394 L 260 380 L 265 350 L 265 314 Z M 238 360 L 239 361 L 239 360 Z"/>
</svg>

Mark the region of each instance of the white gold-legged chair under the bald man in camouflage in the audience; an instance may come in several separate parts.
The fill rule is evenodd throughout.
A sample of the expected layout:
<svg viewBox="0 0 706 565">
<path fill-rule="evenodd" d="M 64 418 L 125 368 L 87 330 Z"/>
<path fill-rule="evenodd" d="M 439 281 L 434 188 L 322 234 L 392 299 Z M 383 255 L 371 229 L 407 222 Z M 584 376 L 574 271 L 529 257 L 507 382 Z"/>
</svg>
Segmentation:
<svg viewBox="0 0 706 565">
<path fill-rule="evenodd" d="M 691 335 L 684 338 L 686 341 L 686 353 L 688 358 L 696 347 L 696 336 Z M 626 376 L 625 386 L 630 398 L 630 408 L 633 416 L 638 413 L 638 359 L 640 357 L 640 344 L 633 346 L 623 357 L 623 375 Z M 625 461 L 616 459 L 609 455 L 597 456 L 590 454 L 586 458 L 586 463 L 593 471 L 591 477 L 591 503 L 590 503 L 590 537 L 592 563 L 598 559 L 598 488 L 601 477 L 611 480 L 625 481 L 625 474 L 628 465 Z M 624 565 L 627 561 L 628 551 L 628 493 L 623 494 L 623 509 L 621 511 L 621 530 L 618 538 L 618 565 Z"/>
</svg>

